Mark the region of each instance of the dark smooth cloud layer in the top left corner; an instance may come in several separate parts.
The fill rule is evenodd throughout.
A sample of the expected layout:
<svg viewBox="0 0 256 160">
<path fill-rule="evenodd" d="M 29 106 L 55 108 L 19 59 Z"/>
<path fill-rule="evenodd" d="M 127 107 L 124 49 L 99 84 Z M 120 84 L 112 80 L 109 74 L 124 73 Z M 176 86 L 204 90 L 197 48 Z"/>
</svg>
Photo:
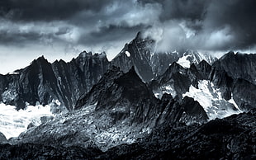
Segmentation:
<svg viewBox="0 0 256 160">
<path fill-rule="evenodd" d="M 4 0 L 0 2 L 0 15 L 15 21 L 65 20 L 81 11 L 98 12 L 107 0 Z"/>
</svg>

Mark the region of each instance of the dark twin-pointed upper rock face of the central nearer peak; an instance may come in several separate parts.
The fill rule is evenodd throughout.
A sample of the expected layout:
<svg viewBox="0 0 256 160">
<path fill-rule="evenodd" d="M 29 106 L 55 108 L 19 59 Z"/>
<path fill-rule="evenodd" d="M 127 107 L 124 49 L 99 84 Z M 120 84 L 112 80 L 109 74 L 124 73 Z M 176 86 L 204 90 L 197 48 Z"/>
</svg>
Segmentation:
<svg viewBox="0 0 256 160">
<path fill-rule="evenodd" d="M 109 72 L 86 96 L 78 100 L 77 108 L 97 103 L 96 111 L 114 110 L 112 115 L 115 120 L 130 116 L 131 121 L 138 123 L 147 121 L 157 112 L 154 111 L 157 99 L 135 73 L 135 68 L 130 68 L 125 74 L 116 67 Z"/>
</svg>

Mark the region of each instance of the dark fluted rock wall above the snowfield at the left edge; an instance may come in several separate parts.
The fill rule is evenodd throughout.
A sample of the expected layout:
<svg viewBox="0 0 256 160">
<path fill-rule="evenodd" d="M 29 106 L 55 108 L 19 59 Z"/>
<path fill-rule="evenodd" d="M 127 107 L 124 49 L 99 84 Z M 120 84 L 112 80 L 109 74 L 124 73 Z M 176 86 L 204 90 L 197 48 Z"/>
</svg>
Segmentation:
<svg viewBox="0 0 256 160">
<path fill-rule="evenodd" d="M 83 52 L 69 63 L 63 60 L 50 64 L 44 57 L 35 59 L 17 74 L 0 76 L 0 101 L 26 107 L 58 100 L 63 110 L 72 110 L 78 97 L 88 92 L 107 71 L 109 62 L 105 53 Z"/>
</svg>

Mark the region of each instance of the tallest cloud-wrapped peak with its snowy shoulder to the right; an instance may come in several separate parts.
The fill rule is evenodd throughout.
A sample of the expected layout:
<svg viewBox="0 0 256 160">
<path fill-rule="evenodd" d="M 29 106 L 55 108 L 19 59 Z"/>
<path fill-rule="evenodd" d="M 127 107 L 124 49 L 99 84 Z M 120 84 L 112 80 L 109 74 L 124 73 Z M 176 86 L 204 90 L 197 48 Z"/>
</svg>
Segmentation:
<svg viewBox="0 0 256 160">
<path fill-rule="evenodd" d="M 140 78 L 149 82 L 162 75 L 173 62 L 178 61 L 178 64 L 189 68 L 190 64 L 198 64 L 203 59 L 209 64 L 216 60 L 210 54 L 202 54 L 189 49 L 183 54 L 177 51 L 159 53 L 154 50 L 155 46 L 154 40 L 144 37 L 143 33 L 139 32 L 135 39 L 126 44 L 121 52 L 111 60 L 111 64 L 120 67 L 124 72 L 135 66 Z"/>
</svg>

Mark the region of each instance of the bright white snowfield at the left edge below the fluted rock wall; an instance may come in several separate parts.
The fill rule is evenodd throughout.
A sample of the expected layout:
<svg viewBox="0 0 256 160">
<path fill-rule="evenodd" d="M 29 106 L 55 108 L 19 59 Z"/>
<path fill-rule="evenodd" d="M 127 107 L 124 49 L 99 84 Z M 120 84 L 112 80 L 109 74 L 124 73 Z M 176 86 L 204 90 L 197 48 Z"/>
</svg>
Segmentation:
<svg viewBox="0 0 256 160">
<path fill-rule="evenodd" d="M 17 137 L 21 132 L 26 131 L 31 122 L 40 125 L 40 117 L 51 115 L 50 106 L 26 106 L 26 110 L 17 111 L 16 106 L 0 102 L 0 132 L 7 139 Z"/>
</svg>

